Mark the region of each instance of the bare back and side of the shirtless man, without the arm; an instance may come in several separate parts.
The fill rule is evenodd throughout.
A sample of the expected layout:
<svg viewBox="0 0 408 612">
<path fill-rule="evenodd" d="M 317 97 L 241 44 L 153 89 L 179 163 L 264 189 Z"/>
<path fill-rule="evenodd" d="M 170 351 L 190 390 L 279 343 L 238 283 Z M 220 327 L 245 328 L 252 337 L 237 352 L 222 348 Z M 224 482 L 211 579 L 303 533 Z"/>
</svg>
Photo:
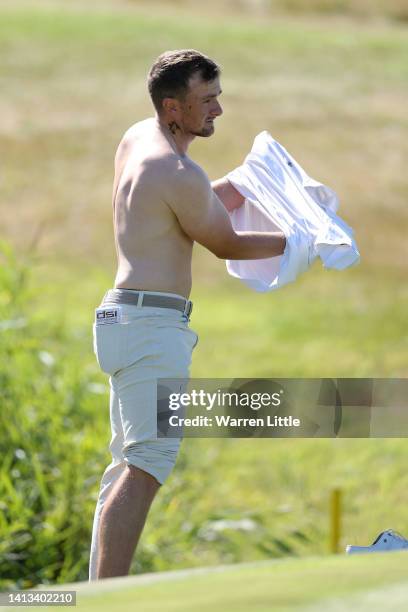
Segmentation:
<svg viewBox="0 0 408 612">
<path fill-rule="evenodd" d="M 177 172 L 194 165 L 176 153 L 155 119 L 126 132 L 115 160 L 115 287 L 189 296 L 193 242 L 169 202 Z"/>
</svg>

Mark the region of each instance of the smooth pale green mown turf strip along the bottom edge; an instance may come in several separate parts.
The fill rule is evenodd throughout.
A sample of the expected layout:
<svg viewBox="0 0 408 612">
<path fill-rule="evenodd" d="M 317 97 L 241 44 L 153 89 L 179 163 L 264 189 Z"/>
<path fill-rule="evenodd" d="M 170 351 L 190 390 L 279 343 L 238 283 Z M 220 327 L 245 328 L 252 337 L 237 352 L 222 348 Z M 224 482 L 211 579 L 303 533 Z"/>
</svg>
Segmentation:
<svg viewBox="0 0 408 612">
<path fill-rule="evenodd" d="M 81 612 L 118 607 L 124 612 L 136 607 L 146 612 L 402 612 L 408 604 L 407 568 L 404 552 L 311 557 L 67 584 L 64 590 L 77 592 Z"/>
</svg>

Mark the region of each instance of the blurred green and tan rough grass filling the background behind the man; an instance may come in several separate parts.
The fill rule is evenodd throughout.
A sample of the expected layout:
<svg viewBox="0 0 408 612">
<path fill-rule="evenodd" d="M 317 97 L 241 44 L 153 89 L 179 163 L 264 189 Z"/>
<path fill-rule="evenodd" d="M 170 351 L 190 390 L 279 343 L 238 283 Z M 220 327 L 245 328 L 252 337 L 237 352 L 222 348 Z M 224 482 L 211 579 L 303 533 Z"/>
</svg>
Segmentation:
<svg viewBox="0 0 408 612">
<path fill-rule="evenodd" d="M 28 261 L 30 288 L 18 304 L 25 281 L 2 258 L 1 318 L 27 322 L 2 327 L 0 344 L 0 562 L 9 555 L 13 570 L 1 572 L 3 586 L 86 578 L 109 461 L 91 322 L 115 274 L 113 155 L 125 129 L 151 114 L 145 76 L 164 49 L 194 46 L 222 64 L 224 116 L 191 147 L 211 178 L 268 129 L 338 192 L 362 255 L 354 269 L 315 265 L 259 295 L 197 249 L 193 376 L 407 375 L 406 26 L 244 9 L 219 3 L 215 18 L 197 3 L 1 5 L 0 232 Z M 407 532 L 405 440 L 186 441 L 133 571 L 325 554 L 335 485 L 342 546 L 387 527 Z M 243 518 L 252 531 L 214 528 Z"/>
</svg>

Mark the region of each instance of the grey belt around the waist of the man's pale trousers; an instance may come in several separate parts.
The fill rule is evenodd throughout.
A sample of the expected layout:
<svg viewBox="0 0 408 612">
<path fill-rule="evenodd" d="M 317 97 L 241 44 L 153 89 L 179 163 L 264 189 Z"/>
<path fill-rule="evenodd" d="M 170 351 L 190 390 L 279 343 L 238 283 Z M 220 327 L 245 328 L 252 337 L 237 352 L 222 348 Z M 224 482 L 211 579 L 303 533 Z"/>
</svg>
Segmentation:
<svg viewBox="0 0 408 612">
<path fill-rule="evenodd" d="M 151 306 L 154 308 L 172 308 L 179 310 L 189 317 L 193 310 L 193 303 L 190 300 L 178 296 L 170 296 L 160 292 L 136 291 L 133 289 L 109 289 L 106 292 L 102 304 L 131 304 L 143 307 Z"/>
</svg>

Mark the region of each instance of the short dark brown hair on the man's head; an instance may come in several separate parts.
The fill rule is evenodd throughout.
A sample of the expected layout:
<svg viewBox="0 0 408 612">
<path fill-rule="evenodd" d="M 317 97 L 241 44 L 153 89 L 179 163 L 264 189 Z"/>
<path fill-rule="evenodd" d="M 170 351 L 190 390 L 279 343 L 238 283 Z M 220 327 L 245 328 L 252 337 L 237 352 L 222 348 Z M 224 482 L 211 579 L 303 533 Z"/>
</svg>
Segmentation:
<svg viewBox="0 0 408 612">
<path fill-rule="evenodd" d="M 163 110 L 164 98 L 185 97 L 188 82 L 196 72 L 204 81 L 212 81 L 221 70 L 213 60 L 195 49 L 165 51 L 159 55 L 147 79 L 150 97 L 158 113 Z"/>
</svg>

